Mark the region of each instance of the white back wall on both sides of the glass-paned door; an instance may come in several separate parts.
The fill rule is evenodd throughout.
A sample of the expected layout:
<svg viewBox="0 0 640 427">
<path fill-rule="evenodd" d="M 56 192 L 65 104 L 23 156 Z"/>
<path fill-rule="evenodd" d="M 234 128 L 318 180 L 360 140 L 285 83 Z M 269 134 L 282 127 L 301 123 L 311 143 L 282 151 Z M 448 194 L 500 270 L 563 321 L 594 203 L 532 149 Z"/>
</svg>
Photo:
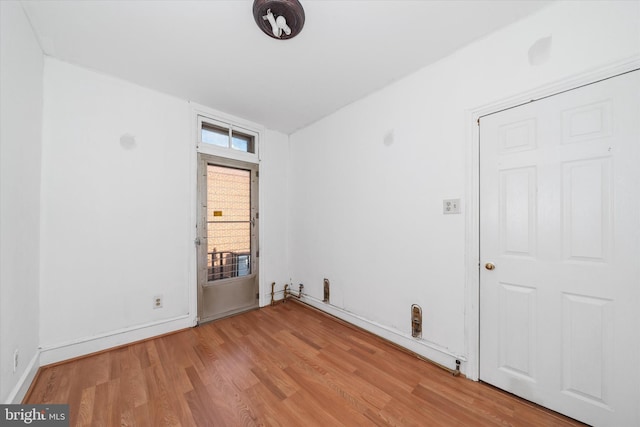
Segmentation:
<svg viewBox="0 0 640 427">
<path fill-rule="evenodd" d="M 44 87 L 42 363 L 191 326 L 196 119 L 189 103 L 51 58 Z M 280 258 L 287 150 L 287 136 L 265 132 L 263 283 L 287 276 Z M 155 295 L 163 308 L 153 309 Z"/>
</svg>

